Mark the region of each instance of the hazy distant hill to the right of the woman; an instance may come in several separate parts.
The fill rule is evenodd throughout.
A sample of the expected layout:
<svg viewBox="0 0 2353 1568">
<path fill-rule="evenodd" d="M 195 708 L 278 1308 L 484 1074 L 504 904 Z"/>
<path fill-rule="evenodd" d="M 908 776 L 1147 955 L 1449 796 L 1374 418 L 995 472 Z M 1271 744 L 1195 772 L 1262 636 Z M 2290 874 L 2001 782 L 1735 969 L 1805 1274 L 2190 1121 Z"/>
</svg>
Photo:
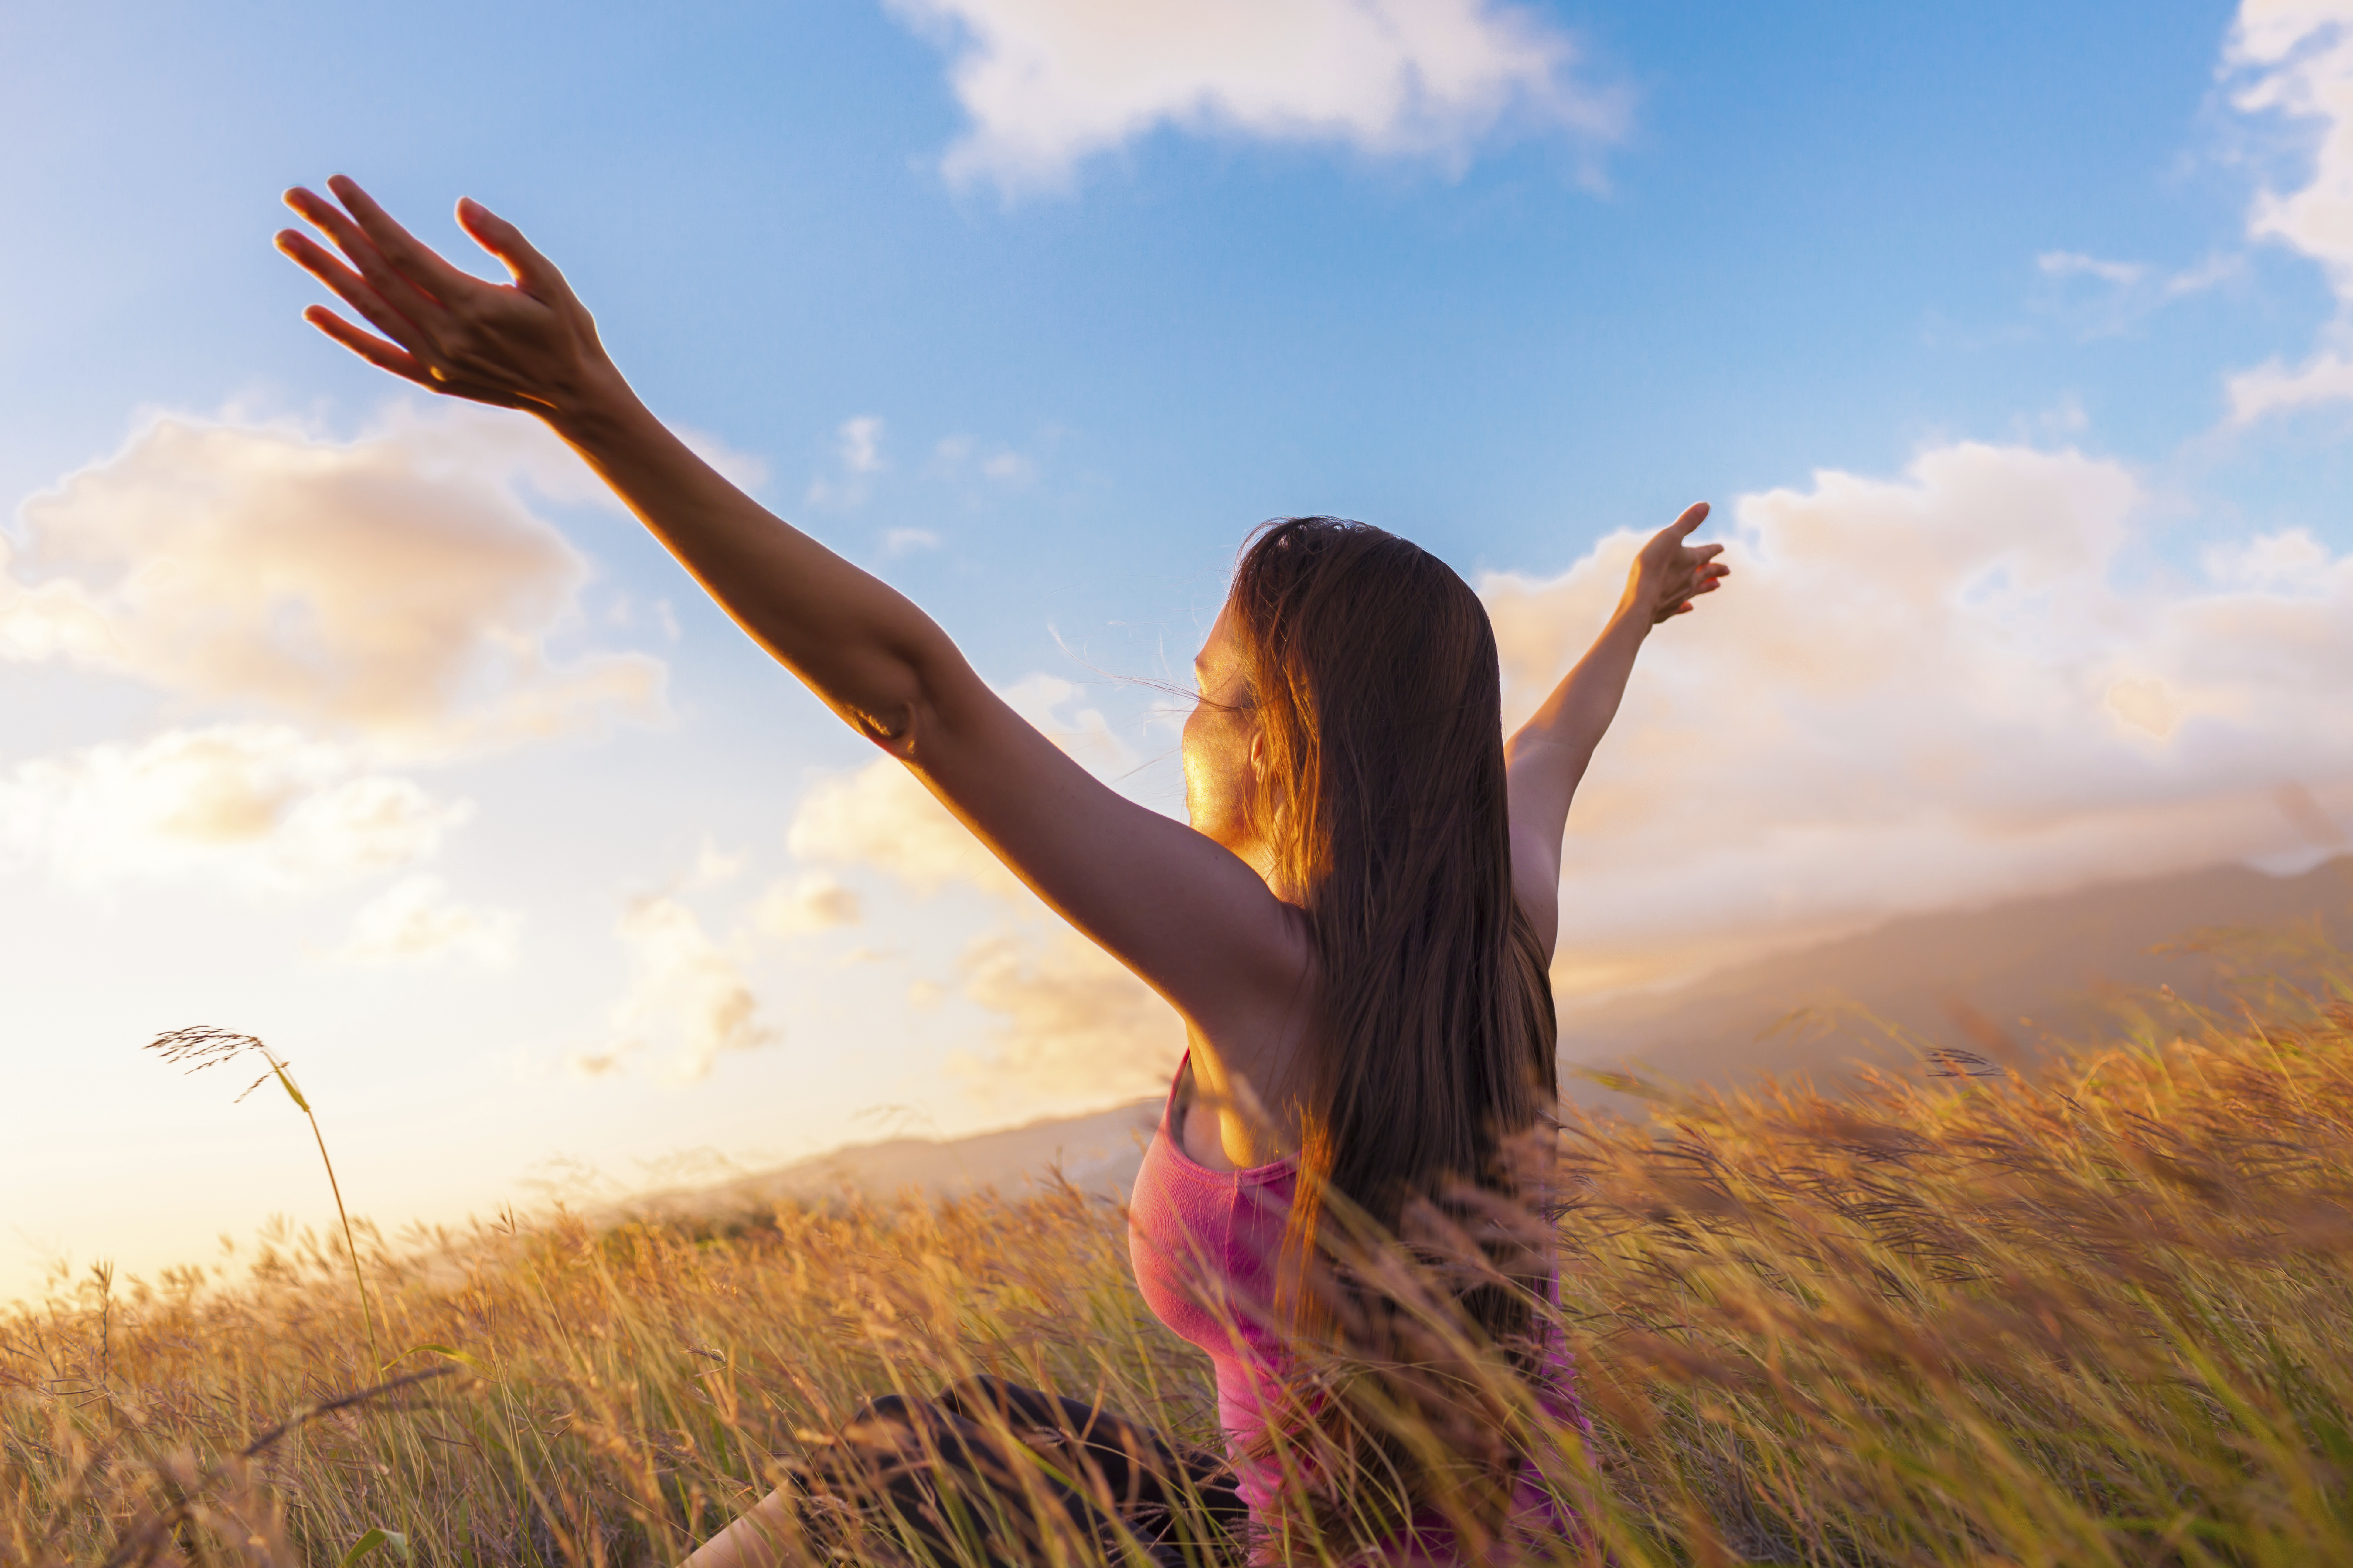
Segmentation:
<svg viewBox="0 0 2353 1568">
<path fill-rule="evenodd" d="M 2198 936 L 2207 940 L 2181 950 Z M 2231 973 L 2304 978 L 2320 940 L 2353 947 L 2353 856 L 2301 877 L 2226 865 L 1892 919 L 1671 992 L 1565 1006 L 1560 1058 L 1680 1084 L 1777 1072 L 1828 1086 L 1857 1060 L 1915 1063 L 1892 1025 L 1915 1046 L 2031 1060 L 2111 1023 L 2118 992 L 2169 985 L 2186 1001 L 2226 1004 Z"/>
</svg>

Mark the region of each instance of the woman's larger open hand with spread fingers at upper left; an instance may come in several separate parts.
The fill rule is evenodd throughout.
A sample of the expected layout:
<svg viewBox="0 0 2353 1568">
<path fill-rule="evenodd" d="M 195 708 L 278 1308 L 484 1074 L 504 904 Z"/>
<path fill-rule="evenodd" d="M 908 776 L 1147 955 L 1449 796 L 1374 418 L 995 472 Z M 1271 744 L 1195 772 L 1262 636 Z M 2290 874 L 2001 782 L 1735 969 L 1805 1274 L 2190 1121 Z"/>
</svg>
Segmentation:
<svg viewBox="0 0 2353 1568">
<path fill-rule="evenodd" d="M 621 386 L 588 310 L 520 228 L 480 202 L 456 205 L 459 226 L 513 275 L 485 282 L 442 261 L 358 181 L 336 174 L 327 188 L 334 200 L 299 186 L 285 200 L 334 249 L 296 228 L 278 233 L 278 249 L 376 329 L 355 327 L 327 306 L 304 310 L 329 339 L 421 388 L 544 418 L 579 411 Z"/>
</svg>

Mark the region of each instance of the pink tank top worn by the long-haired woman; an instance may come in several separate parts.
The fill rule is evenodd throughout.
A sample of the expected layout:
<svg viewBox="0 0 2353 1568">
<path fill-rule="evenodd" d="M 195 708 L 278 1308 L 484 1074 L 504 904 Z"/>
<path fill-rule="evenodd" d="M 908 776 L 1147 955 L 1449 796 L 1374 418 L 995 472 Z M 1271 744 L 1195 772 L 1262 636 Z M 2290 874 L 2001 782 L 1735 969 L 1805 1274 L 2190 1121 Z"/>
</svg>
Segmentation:
<svg viewBox="0 0 2353 1568">
<path fill-rule="evenodd" d="M 1271 1307 L 1299 1159 L 1285 1157 L 1247 1171 L 1212 1171 L 1186 1154 L 1184 1128 L 1176 1126 L 1176 1088 L 1191 1065 L 1193 1056 L 1186 1053 L 1160 1112 L 1160 1135 L 1136 1171 L 1127 1206 L 1127 1255 L 1153 1316 L 1209 1356 L 1217 1371 L 1217 1422 L 1226 1432 L 1235 1490 L 1249 1505 L 1252 1521 L 1266 1521 L 1282 1472 L 1275 1460 L 1252 1455 L 1252 1446 L 1266 1432 L 1268 1413 L 1280 1406 L 1287 1366 Z M 1548 1298 L 1560 1305 L 1558 1274 Z M 1546 1371 L 1551 1387 L 1541 1392 L 1544 1408 L 1555 1420 L 1591 1429 L 1577 1408 L 1569 1354 L 1560 1335 L 1553 1335 Z M 1574 1523 L 1534 1476 L 1520 1481 L 1518 1512 L 1522 1523 L 1555 1537 Z M 1400 1544 L 1398 1552 L 1379 1552 L 1372 1561 L 1431 1566 L 1466 1561 L 1447 1549 L 1442 1528 L 1419 1528 L 1417 1535 L 1419 1549 Z"/>
</svg>

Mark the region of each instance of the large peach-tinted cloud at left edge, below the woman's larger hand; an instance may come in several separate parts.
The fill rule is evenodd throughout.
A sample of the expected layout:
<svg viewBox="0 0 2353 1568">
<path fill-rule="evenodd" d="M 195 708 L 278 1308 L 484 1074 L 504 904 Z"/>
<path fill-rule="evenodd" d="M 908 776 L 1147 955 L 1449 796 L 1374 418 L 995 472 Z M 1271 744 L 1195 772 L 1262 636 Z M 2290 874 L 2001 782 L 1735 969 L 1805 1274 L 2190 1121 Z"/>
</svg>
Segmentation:
<svg viewBox="0 0 2353 1568">
<path fill-rule="evenodd" d="M 659 661 L 548 656 L 586 562 L 518 501 L 515 470 L 579 482 L 478 421 L 339 442 L 160 418 L 24 503 L 24 552 L 0 541 L 0 658 L 71 658 L 409 752 L 656 710 Z"/>
</svg>

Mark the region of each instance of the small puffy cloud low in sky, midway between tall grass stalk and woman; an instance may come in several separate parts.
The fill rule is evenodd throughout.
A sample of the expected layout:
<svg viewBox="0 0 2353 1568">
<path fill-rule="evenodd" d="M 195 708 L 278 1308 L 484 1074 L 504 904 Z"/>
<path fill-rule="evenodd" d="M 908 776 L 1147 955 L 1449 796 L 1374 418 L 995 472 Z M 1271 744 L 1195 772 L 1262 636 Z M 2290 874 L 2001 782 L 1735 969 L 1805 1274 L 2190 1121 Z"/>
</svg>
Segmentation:
<svg viewBox="0 0 2353 1568">
<path fill-rule="evenodd" d="M 609 1072 L 652 1046 L 668 1051 L 666 1077 L 694 1084 L 711 1077 L 720 1056 L 779 1039 L 760 1020 L 760 999 L 736 957 L 711 940 L 687 905 L 640 898 L 621 914 L 619 933 L 631 957 L 631 985 L 614 1009 L 619 1037 L 600 1053 L 574 1056 L 574 1070 Z"/>
</svg>

